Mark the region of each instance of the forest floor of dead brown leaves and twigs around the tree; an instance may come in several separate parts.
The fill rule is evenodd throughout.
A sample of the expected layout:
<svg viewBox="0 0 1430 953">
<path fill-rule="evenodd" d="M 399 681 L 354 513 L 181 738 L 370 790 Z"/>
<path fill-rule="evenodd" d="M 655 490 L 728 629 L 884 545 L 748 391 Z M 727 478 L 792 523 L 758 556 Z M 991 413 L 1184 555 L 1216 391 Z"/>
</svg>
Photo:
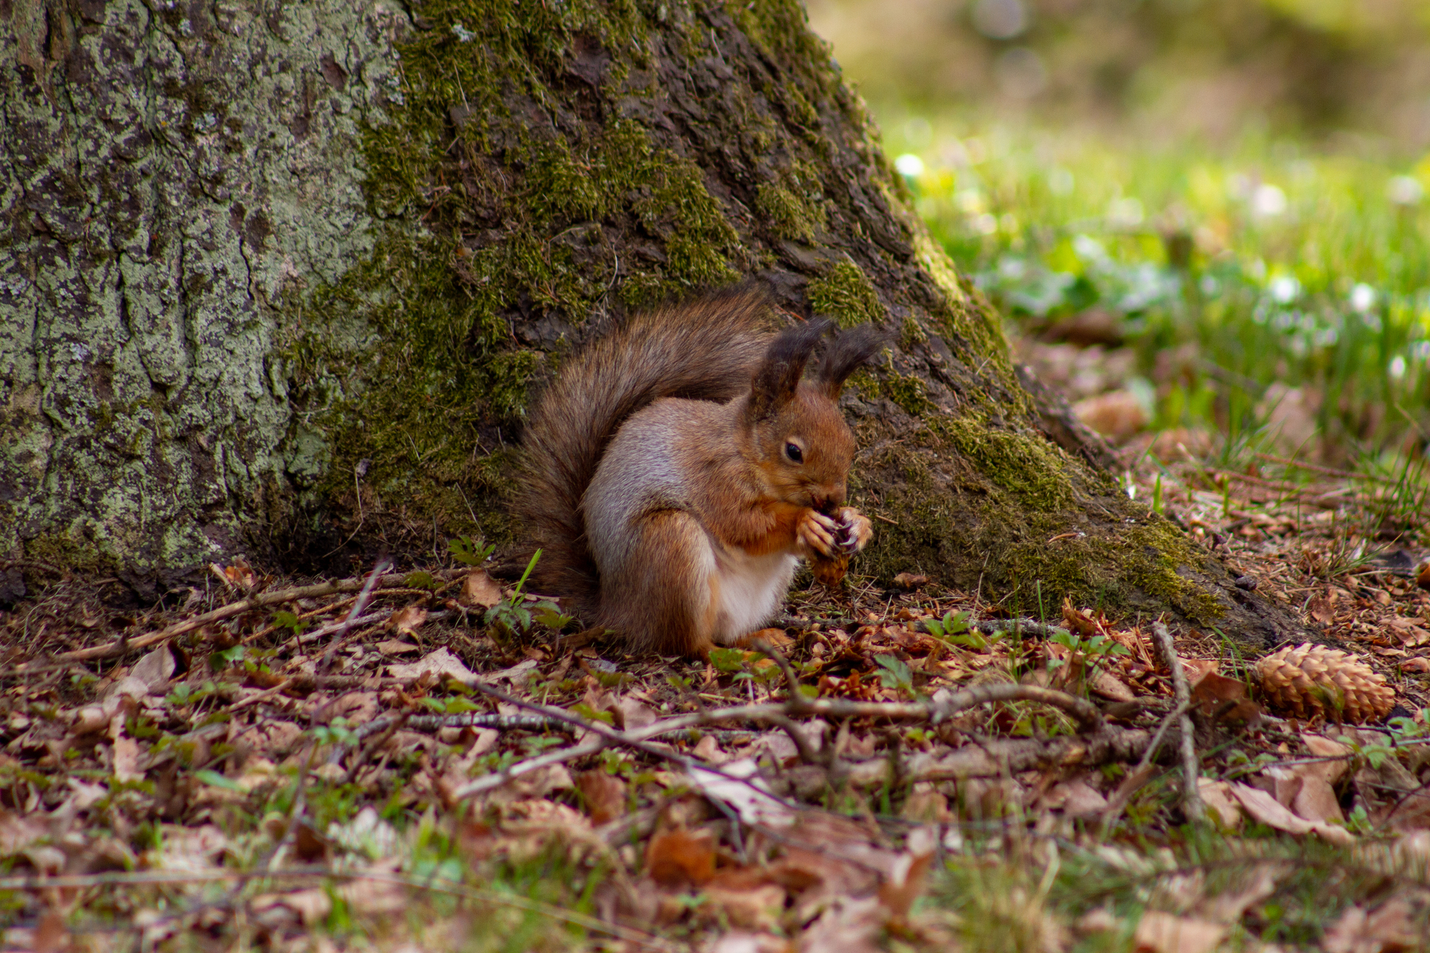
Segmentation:
<svg viewBox="0 0 1430 953">
<path fill-rule="evenodd" d="M 51 579 L 0 614 L 3 949 L 1423 949 L 1430 579 L 1396 486 L 1161 440 L 1128 484 L 1338 683 L 917 567 L 708 663 L 571 633 L 465 542 L 214 566 L 140 613 Z"/>
</svg>

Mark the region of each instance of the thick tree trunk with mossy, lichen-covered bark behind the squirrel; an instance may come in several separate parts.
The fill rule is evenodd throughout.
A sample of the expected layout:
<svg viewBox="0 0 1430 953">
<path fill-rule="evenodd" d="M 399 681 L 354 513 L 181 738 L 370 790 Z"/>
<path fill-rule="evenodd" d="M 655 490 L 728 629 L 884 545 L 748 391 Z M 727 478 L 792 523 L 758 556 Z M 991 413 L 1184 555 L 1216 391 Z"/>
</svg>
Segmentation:
<svg viewBox="0 0 1430 953">
<path fill-rule="evenodd" d="M 561 356 L 758 274 L 791 313 L 898 331 L 845 397 L 864 572 L 1294 630 L 1024 387 L 795 0 L 0 11 L 13 566 L 144 587 L 236 552 L 509 540 Z"/>
</svg>

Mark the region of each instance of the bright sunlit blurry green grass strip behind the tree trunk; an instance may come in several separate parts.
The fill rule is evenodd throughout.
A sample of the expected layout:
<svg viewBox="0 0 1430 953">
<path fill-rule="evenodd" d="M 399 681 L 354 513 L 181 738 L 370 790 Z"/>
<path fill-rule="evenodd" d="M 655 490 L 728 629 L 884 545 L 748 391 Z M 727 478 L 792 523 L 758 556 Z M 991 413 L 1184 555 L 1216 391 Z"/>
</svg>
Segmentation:
<svg viewBox="0 0 1430 953">
<path fill-rule="evenodd" d="M 1317 399 L 1331 459 L 1407 439 L 1423 450 L 1430 160 L 952 119 L 887 119 L 885 130 L 891 157 L 922 161 L 905 177 L 935 237 L 1020 330 L 1091 309 L 1120 319 L 1155 427 L 1244 440 L 1280 381 Z"/>
</svg>

